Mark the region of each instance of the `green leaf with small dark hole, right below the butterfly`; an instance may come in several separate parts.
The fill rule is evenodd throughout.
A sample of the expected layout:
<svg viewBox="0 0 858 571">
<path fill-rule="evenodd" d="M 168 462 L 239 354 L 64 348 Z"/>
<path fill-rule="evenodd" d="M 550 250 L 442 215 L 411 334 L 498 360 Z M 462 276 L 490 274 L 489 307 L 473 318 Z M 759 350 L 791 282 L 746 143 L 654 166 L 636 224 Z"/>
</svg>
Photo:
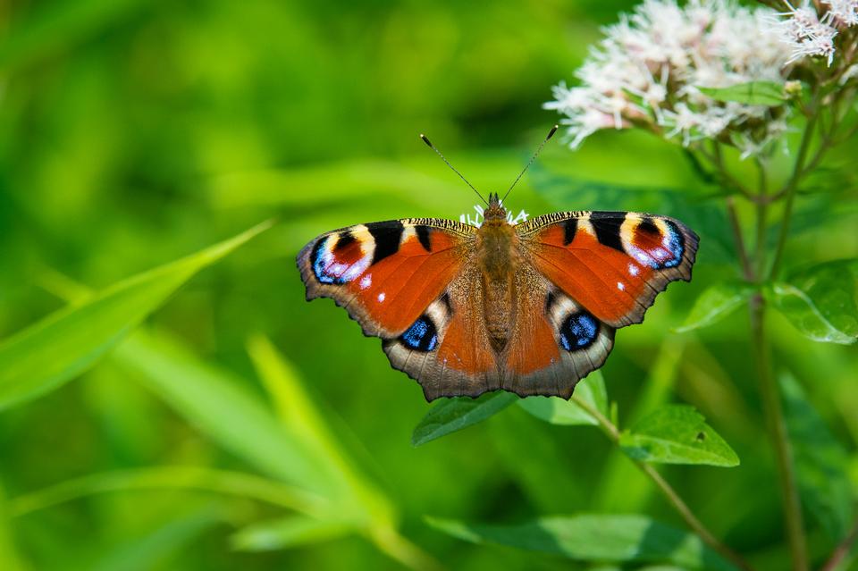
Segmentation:
<svg viewBox="0 0 858 571">
<path fill-rule="evenodd" d="M 704 420 L 694 407 L 667 405 L 623 432 L 619 445 L 644 462 L 738 466 L 736 452 Z"/>
</svg>

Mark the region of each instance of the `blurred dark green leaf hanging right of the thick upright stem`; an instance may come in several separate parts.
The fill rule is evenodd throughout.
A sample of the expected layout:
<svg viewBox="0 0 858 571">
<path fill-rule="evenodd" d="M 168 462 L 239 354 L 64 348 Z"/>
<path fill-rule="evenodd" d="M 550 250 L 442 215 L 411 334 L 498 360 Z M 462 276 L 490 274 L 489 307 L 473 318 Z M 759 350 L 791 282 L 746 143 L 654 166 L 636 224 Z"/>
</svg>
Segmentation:
<svg viewBox="0 0 858 571">
<path fill-rule="evenodd" d="M 849 455 L 808 402 L 801 385 L 784 374 L 780 386 L 802 500 L 830 538 L 839 542 L 853 519 Z"/>
</svg>

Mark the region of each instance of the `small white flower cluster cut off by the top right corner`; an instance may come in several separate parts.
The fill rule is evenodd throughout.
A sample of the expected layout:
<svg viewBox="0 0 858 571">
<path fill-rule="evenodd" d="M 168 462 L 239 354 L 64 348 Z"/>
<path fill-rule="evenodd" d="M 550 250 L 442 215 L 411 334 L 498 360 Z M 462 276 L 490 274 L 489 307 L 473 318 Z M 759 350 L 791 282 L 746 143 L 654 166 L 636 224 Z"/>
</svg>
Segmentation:
<svg viewBox="0 0 858 571">
<path fill-rule="evenodd" d="M 784 3 L 789 10 L 778 16 L 787 18 L 777 23 L 784 41 L 792 51 L 787 63 L 796 62 L 808 55 L 820 55 L 831 65 L 835 52 L 834 38 L 838 29 L 858 24 L 858 0 L 821 0 L 820 6 L 825 7 L 821 18 L 816 7 L 808 0 L 804 0 L 797 8 L 787 0 L 784 0 Z"/>
</svg>

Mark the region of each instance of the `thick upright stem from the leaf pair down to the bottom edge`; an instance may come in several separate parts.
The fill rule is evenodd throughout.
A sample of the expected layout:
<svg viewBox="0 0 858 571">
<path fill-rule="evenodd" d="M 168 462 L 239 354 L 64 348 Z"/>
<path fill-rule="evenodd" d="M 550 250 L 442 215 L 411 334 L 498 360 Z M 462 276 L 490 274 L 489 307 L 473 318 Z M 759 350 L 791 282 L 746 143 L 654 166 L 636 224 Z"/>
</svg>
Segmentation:
<svg viewBox="0 0 858 571">
<path fill-rule="evenodd" d="M 762 408 L 766 418 L 771 446 L 775 450 L 778 464 L 778 480 L 784 504 L 787 538 L 793 560 L 794 571 L 807 570 L 807 545 L 804 539 L 802 507 L 795 485 L 793 458 L 787 437 L 787 424 L 781 407 L 778 384 L 772 374 L 769 346 L 764 331 L 765 300 L 760 292 L 754 294 L 750 302 L 751 333 L 753 337 L 753 355 L 757 365 L 757 378 L 760 382 Z"/>
</svg>

